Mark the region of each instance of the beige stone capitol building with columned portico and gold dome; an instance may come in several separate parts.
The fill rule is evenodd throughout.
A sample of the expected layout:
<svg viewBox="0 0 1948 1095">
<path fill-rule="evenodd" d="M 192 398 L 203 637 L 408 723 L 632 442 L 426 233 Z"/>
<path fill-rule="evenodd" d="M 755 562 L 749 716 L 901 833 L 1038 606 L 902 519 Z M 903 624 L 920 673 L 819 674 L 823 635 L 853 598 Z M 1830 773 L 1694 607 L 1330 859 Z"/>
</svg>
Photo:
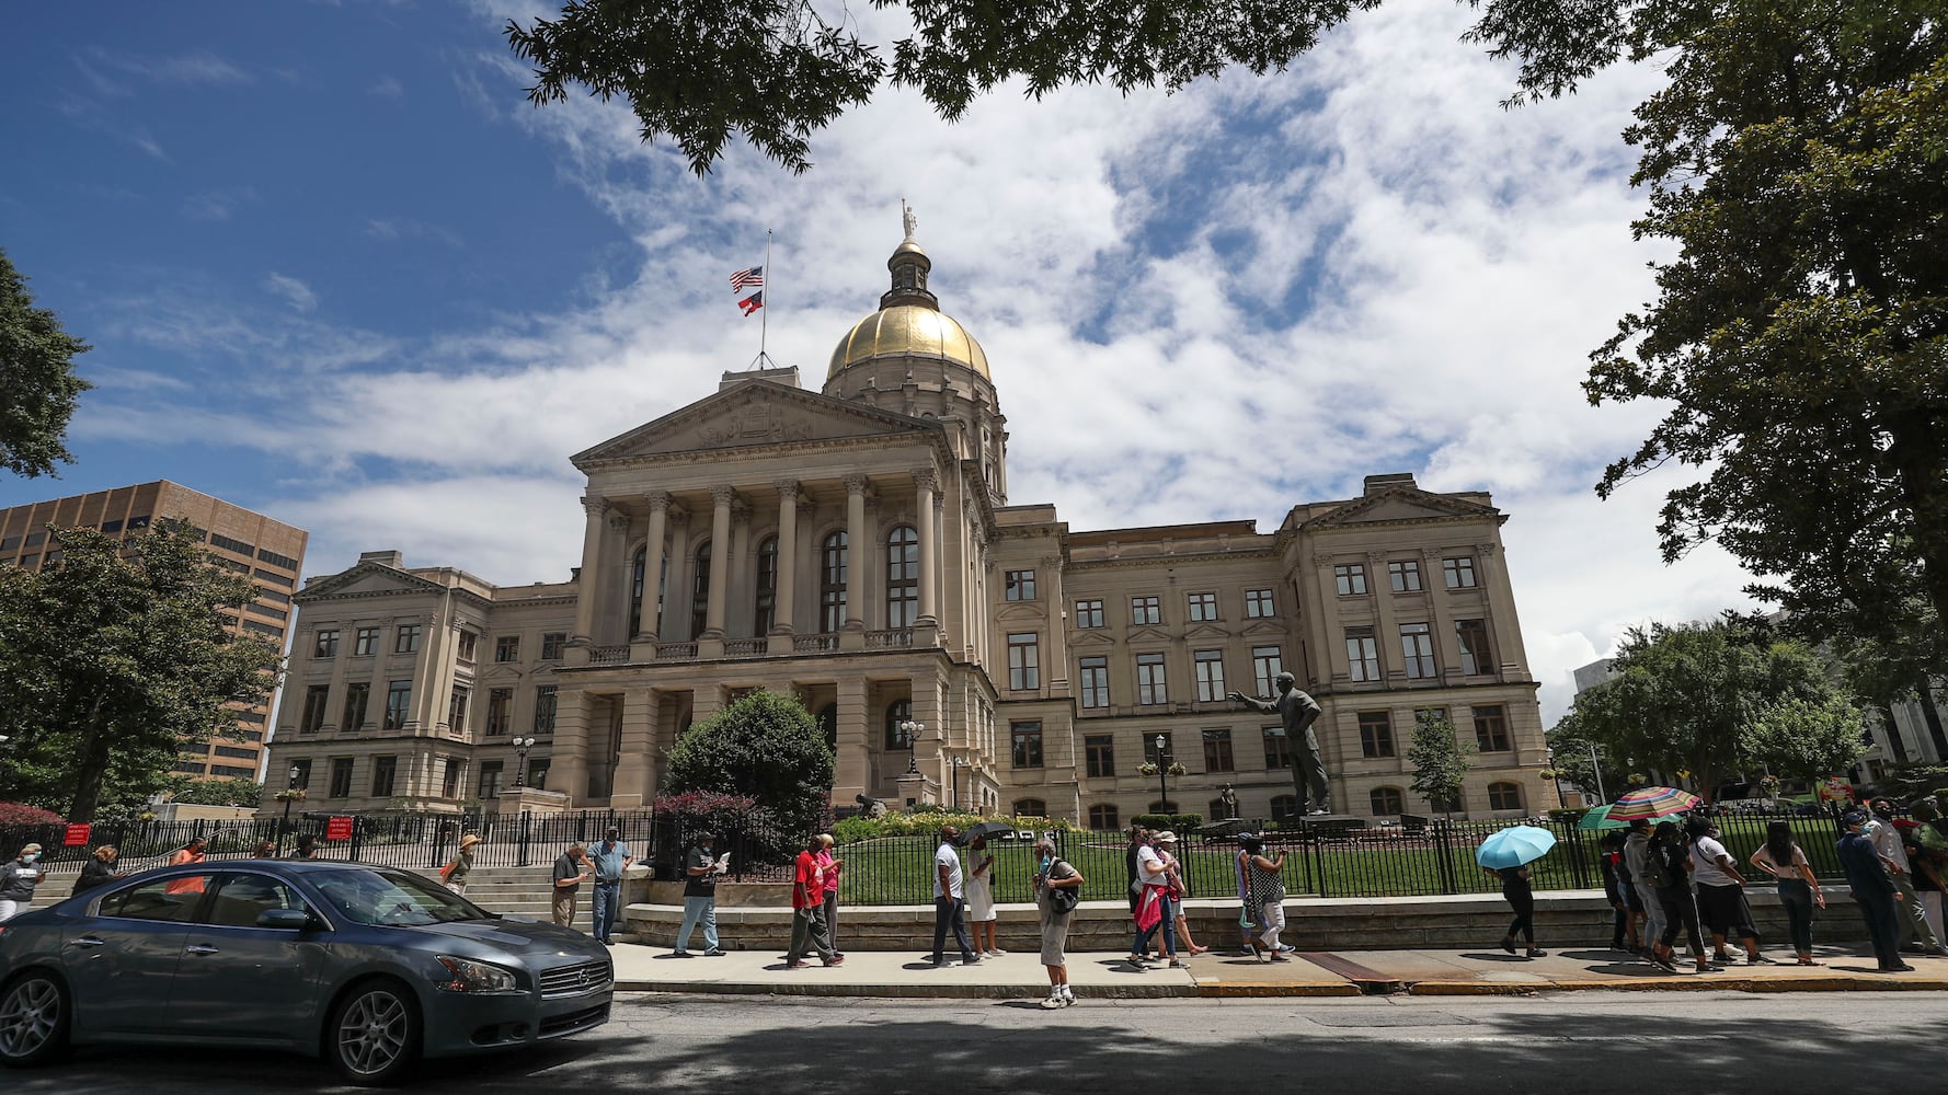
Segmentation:
<svg viewBox="0 0 1948 1095">
<path fill-rule="evenodd" d="M 1288 668 L 1325 707 L 1338 811 L 1428 809 L 1403 760 L 1428 707 L 1482 746 L 1461 809 L 1555 805 L 1506 516 L 1484 493 L 1373 475 L 1274 532 L 1071 532 L 1052 505 L 1009 505 L 988 359 L 939 312 L 929 267 L 912 240 L 894 251 L 820 392 L 793 368 L 727 372 L 577 454 L 573 581 L 497 588 L 386 551 L 310 581 L 273 770 L 304 770 L 310 809 L 460 809 L 503 797 L 526 756 L 545 799 L 629 809 L 693 721 L 769 688 L 826 727 L 842 811 L 1116 826 L 1159 803 L 1140 766 L 1165 735 L 1165 766 L 1186 770 L 1165 774 L 1169 803 L 1214 814 L 1233 785 L 1243 816 L 1280 816 L 1276 719 L 1223 694 L 1264 696 Z"/>
</svg>

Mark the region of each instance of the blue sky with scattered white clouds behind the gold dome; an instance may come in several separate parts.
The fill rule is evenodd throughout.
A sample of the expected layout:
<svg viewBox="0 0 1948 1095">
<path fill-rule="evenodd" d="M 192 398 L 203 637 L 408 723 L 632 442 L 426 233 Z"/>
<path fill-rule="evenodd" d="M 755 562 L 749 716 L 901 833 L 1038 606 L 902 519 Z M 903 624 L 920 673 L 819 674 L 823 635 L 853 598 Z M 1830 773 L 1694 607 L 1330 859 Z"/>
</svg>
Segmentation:
<svg viewBox="0 0 1948 1095">
<path fill-rule="evenodd" d="M 904 197 L 993 362 L 1011 501 L 1272 528 L 1375 472 L 1494 491 L 1549 717 L 1625 625 L 1742 604 L 1722 553 L 1656 555 L 1681 470 L 1590 491 L 1656 413 L 1578 390 L 1660 255 L 1617 136 L 1656 72 L 1502 111 L 1467 10 L 1395 4 L 1286 74 L 1003 90 L 953 127 L 882 92 L 806 175 L 738 148 L 695 179 L 621 105 L 524 99 L 499 27 L 534 10 L 8 12 L 0 247 L 99 388 L 76 464 L 0 505 L 171 477 L 312 530 L 308 573 L 561 579 L 567 456 L 756 355 L 725 277 L 773 232 L 769 353 L 816 386 Z"/>
</svg>

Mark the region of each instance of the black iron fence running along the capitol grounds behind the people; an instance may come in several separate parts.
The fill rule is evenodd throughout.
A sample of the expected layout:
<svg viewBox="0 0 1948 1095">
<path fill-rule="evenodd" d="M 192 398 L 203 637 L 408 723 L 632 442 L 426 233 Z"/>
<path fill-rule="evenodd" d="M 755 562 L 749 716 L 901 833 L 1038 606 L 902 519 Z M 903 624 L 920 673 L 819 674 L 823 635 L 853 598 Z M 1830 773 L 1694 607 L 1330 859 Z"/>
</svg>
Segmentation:
<svg viewBox="0 0 1948 1095">
<path fill-rule="evenodd" d="M 1792 826 L 1798 846 L 1821 879 L 1839 879 L 1839 857 L 1833 842 L 1839 826 L 1829 814 L 1761 814 L 1742 812 L 1716 818 L 1722 842 L 1738 859 L 1747 879 L 1759 883 L 1755 869 L 1745 869 L 1747 857 L 1765 842 L 1767 826 L 1784 820 Z M 333 824 L 337 822 L 337 824 Z M 1475 863 L 1475 850 L 1492 832 L 1508 828 L 1508 820 L 1447 822 L 1442 818 L 1408 818 L 1406 824 L 1360 826 L 1346 822 L 1311 824 L 1264 834 L 1266 853 L 1284 851 L 1286 890 L 1325 898 L 1342 896 L 1436 896 L 1496 892 L 1500 881 Z M 1599 846 L 1605 832 L 1582 830 L 1574 818 L 1531 818 L 1556 836 L 1556 846 L 1529 865 L 1537 890 L 1580 890 L 1603 885 Z M 559 814 L 534 812 L 469 812 L 469 814 L 356 814 L 331 818 L 327 814 L 292 814 L 242 820 L 181 820 L 181 822 L 103 822 L 86 832 L 80 844 L 68 844 L 70 828 L 6 826 L 0 828 L 0 853 L 12 857 L 33 842 L 43 848 L 43 863 L 62 869 L 78 867 L 95 848 L 113 844 L 121 851 L 123 869 L 156 867 L 191 838 L 205 838 L 212 859 L 255 855 L 263 842 L 281 853 L 290 853 L 300 838 L 312 838 L 319 859 L 382 863 L 431 871 L 454 857 L 460 838 L 479 836 L 473 846 L 475 867 L 532 867 L 551 863 L 571 844 L 590 846 L 616 826 L 635 857 L 649 863 L 662 879 L 680 877 L 680 857 L 693 832 L 684 820 L 655 811 L 577 811 Z M 80 836 L 76 830 L 74 836 Z M 717 832 L 717 850 L 730 851 L 732 881 L 789 881 L 791 859 L 799 850 L 795 836 L 769 830 Z M 1085 900 L 1122 898 L 1128 892 L 1128 842 L 1116 832 L 1058 832 L 1062 855 L 1083 873 Z M 840 846 L 845 863 L 840 875 L 840 898 L 851 906 L 871 904 L 929 904 L 933 900 L 933 855 L 939 842 L 931 836 L 886 836 Z M 1029 900 L 1030 877 L 1036 871 L 1032 842 L 1001 834 L 988 851 L 995 900 Z M 960 850 L 972 869 L 976 853 Z M 1194 898 L 1225 898 L 1237 892 L 1237 840 L 1231 836 L 1182 834 L 1177 850 L 1184 883 Z"/>
</svg>

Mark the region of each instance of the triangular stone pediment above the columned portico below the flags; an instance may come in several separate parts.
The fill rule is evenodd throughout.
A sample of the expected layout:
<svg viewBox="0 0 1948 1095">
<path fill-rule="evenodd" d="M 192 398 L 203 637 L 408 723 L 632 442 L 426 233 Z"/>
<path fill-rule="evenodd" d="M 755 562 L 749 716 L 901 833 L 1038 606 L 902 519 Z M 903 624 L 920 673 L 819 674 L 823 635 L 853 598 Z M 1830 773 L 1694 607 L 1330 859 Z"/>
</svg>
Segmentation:
<svg viewBox="0 0 1948 1095">
<path fill-rule="evenodd" d="M 769 380 L 746 380 L 688 407 L 645 423 L 602 444 L 577 452 L 571 460 L 588 470 L 598 464 L 645 456 L 713 452 L 793 442 L 882 438 L 892 434 L 931 434 L 939 425 L 892 411 L 880 411 L 818 392 L 803 392 Z"/>
</svg>

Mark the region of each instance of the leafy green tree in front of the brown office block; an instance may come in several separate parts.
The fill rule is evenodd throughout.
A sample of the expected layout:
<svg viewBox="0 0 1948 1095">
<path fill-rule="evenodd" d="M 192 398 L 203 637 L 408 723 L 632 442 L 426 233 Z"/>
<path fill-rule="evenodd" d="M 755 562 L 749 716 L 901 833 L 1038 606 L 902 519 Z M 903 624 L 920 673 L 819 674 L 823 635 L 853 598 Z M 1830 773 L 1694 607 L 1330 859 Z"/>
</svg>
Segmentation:
<svg viewBox="0 0 1948 1095">
<path fill-rule="evenodd" d="M 226 629 L 253 596 L 187 526 L 56 528 L 39 571 L 0 569 L 0 797 L 92 820 L 164 789 L 185 744 L 271 690 L 279 649 Z"/>
</svg>

